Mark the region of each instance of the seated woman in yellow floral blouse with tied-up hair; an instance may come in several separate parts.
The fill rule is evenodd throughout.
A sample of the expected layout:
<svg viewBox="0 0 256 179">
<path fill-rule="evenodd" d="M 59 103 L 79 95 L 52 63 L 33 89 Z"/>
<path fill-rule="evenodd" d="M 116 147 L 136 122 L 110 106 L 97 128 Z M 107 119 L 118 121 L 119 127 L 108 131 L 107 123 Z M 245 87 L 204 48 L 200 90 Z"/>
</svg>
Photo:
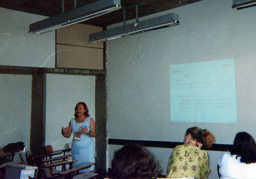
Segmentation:
<svg viewBox="0 0 256 179">
<path fill-rule="evenodd" d="M 201 147 L 210 148 L 214 137 L 207 129 L 188 128 L 184 145 L 176 146 L 170 155 L 166 178 L 206 179 L 210 171 L 208 154 Z"/>
</svg>

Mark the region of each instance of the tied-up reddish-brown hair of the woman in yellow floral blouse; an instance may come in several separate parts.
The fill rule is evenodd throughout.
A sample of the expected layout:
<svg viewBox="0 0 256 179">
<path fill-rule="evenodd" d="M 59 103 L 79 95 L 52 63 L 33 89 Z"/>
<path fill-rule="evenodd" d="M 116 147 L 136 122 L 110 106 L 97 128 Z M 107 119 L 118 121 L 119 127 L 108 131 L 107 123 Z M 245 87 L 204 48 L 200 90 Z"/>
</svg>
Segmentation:
<svg viewBox="0 0 256 179">
<path fill-rule="evenodd" d="M 207 129 L 192 127 L 187 129 L 186 134 L 191 134 L 192 138 L 203 144 L 204 148 L 210 148 L 214 142 L 214 136 Z"/>
</svg>

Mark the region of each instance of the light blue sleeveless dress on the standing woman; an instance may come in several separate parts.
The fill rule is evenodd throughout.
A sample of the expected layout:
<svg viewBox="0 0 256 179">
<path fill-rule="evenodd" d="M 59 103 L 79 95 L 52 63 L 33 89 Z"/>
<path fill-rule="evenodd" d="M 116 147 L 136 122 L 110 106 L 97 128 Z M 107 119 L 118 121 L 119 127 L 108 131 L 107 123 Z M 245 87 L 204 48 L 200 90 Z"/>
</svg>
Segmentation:
<svg viewBox="0 0 256 179">
<path fill-rule="evenodd" d="M 77 160 L 77 162 L 73 163 L 74 165 L 78 165 L 80 163 L 84 162 L 94 162 L 94 143 L 93 138 L 88 136 L 87 134 L 82 133 L 80 141 L 75 141 L 75 132 L 78 132 L 78 129 L 80 129 L 80 126 L 85 128 L 85 126 L 90 131 L 90 119 L 91 117 L 88 117 L 85 119 L 83 123 L 77 123 L 75 121 L 75 118 L 71 119 L 71 125 L 72 125 L 72 132 L 73 132 L 73 140 L 72 140 L 72 159 Z M 86 168 L 84 170 L 79 170 L 79 172 L 87 172 L 94 170 L 94 166 L 91 166 L 90 168 Z"/>
</svg>

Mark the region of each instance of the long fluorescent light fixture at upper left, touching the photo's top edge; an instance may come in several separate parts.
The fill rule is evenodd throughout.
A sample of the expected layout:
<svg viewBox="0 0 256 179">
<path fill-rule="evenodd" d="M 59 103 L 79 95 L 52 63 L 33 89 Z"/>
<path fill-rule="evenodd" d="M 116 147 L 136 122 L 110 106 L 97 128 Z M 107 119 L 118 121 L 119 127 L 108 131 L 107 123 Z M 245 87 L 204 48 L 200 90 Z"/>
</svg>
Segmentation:
<svg viewBox="0 0 256 179">
<path fill-rule="evenodd" d="M 29 32 L 44 34 L 121 9 L 120 0 L 99 0 L 30 24 Z"/>
</svg>

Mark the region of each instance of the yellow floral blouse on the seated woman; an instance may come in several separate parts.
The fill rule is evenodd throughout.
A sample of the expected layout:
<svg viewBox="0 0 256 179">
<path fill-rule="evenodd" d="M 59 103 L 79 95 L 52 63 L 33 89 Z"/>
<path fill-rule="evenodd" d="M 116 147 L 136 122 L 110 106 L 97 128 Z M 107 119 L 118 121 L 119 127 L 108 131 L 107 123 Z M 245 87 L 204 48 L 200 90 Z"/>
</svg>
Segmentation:
<svg viewBox="0 0 256 179">
<path fill-rule="evenodd" d="M 166 178 L 206 179 L 209 171 L 205 151 L 190 145 L 178 145 L 170 155 Z"/>
</svg>

